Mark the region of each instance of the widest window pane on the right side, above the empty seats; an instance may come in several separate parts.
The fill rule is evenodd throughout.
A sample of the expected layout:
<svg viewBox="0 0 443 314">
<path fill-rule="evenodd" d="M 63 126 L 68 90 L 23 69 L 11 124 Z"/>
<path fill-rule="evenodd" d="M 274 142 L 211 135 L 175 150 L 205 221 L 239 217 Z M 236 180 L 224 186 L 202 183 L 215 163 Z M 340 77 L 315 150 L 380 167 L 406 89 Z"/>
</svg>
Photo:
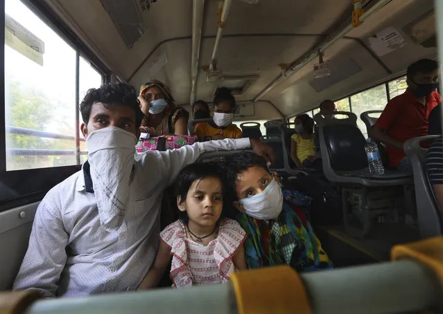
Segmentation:
<svg viewBox="0 0 443 314">
<path fill-rule="evenodd" d="M 351 96 L 352 112 L 356 114 L 357 125 L 365 137 L 367 137 L 367 129 L 360 118 L 361 113 L 370 110 L 383 110 L 387 102 L 388 97 L 385 84 Z"/>
</svg>

